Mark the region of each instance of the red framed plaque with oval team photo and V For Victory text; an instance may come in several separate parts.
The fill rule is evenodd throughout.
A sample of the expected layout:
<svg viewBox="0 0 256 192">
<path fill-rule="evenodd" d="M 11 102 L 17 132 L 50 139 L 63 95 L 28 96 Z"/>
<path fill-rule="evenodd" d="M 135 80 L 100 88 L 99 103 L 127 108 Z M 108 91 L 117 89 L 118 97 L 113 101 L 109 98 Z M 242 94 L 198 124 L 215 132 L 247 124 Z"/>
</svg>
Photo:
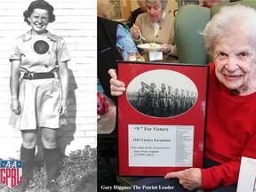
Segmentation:
<svg viewBox="0 0 256 192">
<path fill-rule="evenodd" d="M 118 61 L 120 176 L 202 167 L 208 66 Z"/>
</svg>

